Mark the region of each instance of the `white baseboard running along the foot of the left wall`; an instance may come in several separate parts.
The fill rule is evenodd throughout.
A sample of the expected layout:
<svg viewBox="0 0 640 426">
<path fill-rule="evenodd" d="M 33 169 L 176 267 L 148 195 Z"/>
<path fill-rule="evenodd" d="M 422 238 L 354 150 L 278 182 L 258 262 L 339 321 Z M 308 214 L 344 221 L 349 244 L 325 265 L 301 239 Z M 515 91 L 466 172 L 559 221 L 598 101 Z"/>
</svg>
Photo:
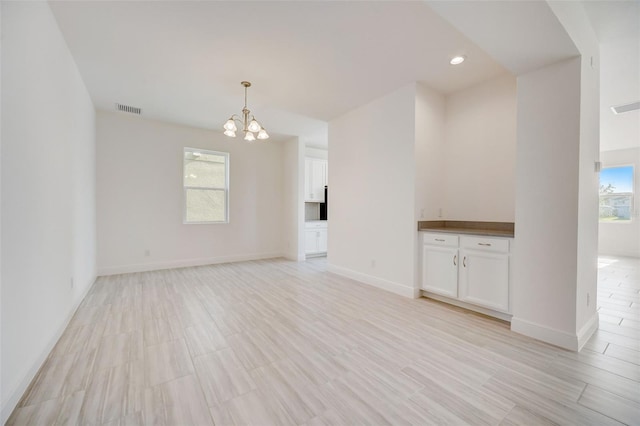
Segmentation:
<svg viewBox="0 0 640 426">
<path fill-rule="evenodd" d="M 14 387 L 14 389 L 11 390 L 11 392 L 9 392 L 9 397 L 5 401 L 2 401 L 2 411 L 0 412 L 0 424 L 3 425 L 7 422 L 7 420 L 9 420 L 9 416 L 11 415 L 13 410 L 16 408 L 16 406 L 20 402 L 22 395 L 24 395 L 24 393 L 27 391 L 27 388 L 29 387 L 33 379 L 36 377 L 36 374 L 38 374 L 38 371 L 40 370 L 40 368 L 42 368 L 42 365 L 49 357 L 49 354 L 53 350 L 56 343 L 58 343 L 58 340 L 62 336 L 62 333 L 64 333 L 64 330 L 66 330 L 67 326 L 69 325 L 69 321 L 71 321 L 71 318 L 73 318 L 73 316 L 75 315 L 76 311 L 78 310 L 78 307 L 80 307 L 80 304 L 82 303 L 84 298 L 87 296 L 87 293 L 89 292 L 89 290 L 91 290 L 91 287 L 93 286 L 93 283 L 95 283 L 96 278 L 97 277 L 94 276 L 92 280 L 87 284 L 86 288 L 84 289 L 80 297 L 78 297 L 78 300 L 73 304 L 73 307 L 69 311 L 69 314 L 67 315 L 65 320 L 62 321 L 62 324 L 60 325 L 60 327 L 58 327 L 58 330 L 53 335 L 53 337 L 49 340 L 49 342 L 44 347 L 42 352 L 40 352 L 40 355 L 38 355 L 34 363 L 31 365 L 31 368 L 29 368 L 25 376 Z M 4 385 L 5 384 L 3 383 L 3 386 Z"/>
</svg>

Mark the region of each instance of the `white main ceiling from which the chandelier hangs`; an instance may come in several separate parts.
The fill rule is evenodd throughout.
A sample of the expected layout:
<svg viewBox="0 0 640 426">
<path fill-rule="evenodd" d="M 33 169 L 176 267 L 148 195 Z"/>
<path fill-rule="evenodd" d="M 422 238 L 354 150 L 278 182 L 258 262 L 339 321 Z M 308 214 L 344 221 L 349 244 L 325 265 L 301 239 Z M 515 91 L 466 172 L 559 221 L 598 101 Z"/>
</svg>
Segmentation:
<svg viewBox="0 0 640 426">
<path fill-rule="evenodd" d="M 410 82 L 449 93 L 506 72 L 424 2 L 51 7 L 98 108 L 120 102 L 198 127 L 240 112 L 242 80 L 270 133 L 326 139 L 327 120 Z M 453 67 L 456 54 L 468 59 Z"/>
</svg>

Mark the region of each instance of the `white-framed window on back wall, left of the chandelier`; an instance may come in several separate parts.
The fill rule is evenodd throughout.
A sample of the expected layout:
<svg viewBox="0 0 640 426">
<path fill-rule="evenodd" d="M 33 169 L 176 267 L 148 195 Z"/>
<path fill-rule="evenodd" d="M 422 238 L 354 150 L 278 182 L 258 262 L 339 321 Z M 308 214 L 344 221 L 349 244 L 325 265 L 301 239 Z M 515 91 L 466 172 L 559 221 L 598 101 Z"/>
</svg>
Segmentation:
<svg viewBox="0 0 640 426">
<path fill-rule="evenodd" d="M 229 154 L 184 149 L 184 223 L 229 221 Z"/>
</svg>

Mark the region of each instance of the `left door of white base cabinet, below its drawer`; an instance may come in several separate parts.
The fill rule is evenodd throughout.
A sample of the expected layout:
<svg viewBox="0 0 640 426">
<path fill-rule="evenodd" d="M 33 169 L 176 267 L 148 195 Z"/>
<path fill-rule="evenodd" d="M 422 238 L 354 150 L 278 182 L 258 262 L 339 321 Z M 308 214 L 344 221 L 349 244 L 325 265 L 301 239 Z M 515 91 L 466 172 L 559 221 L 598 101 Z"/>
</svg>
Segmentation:
<svg viewBox="0 0 640 426">
<path fill-rule="evenodd" d="M 458 297 L 458 249 L 422 246 L 422 289 Z"/>
</svg>

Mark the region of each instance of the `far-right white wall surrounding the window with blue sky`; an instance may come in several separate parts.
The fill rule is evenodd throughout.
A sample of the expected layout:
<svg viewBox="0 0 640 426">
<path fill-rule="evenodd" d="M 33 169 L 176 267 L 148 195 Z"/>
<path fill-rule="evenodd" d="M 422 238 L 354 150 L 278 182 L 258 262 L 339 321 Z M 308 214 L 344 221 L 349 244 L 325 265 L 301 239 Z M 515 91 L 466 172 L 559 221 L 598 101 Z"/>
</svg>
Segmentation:
<svg viewBox="0 0 640 426">
<path fill-rule="evenodd" d="M 640 257 L 640 148 L 600 153 L 602 167 L 634 167 L 634 213 L 630 223 L 601 222 L 598 252 L 603 255 Z"/>
</svg>

